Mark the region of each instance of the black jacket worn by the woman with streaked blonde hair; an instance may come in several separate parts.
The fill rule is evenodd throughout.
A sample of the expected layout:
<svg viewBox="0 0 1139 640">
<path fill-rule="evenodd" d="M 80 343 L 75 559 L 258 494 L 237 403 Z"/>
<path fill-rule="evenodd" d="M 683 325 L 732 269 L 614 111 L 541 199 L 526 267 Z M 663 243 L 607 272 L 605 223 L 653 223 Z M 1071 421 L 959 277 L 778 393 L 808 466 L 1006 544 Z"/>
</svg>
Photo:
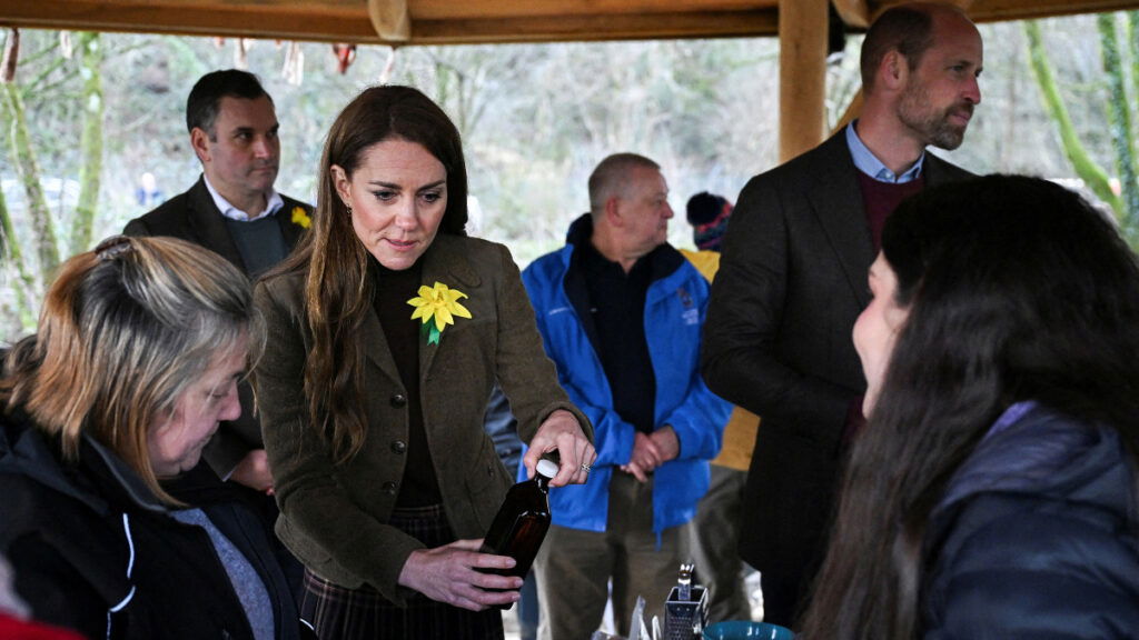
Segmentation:
<svg viewBox="0 0 1139 640">
<path fill-rule="evenodd" d="M 172 518 L 93 441 L 82 442 L 76 465 L 57 451 L 26 419 L 0 416 L 0 553 L 36 620 L 88 638 L 253 640 L 204 530 Z M 190 476 L 172 493 L 200 507 L 257 571 L 274 606 L 277 640 L 303 638 L 264 527 L 226 498 L 205 465 Z"/>
</svg>

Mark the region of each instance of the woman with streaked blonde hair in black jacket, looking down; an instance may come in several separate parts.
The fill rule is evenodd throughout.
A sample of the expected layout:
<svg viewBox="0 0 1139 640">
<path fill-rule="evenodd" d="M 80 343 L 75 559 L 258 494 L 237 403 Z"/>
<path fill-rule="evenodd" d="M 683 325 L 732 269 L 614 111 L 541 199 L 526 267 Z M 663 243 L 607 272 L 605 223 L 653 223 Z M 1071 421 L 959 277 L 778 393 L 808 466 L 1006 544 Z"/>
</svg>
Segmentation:
<svg viewBox="0 0 1139 640">
<path fill-rule="evenodd" d="M 0 377 L 0 555 L 88 638 L 302 638 L 271 532 L 203 463 L 264 329 L 248 281 L 170 238 L 68 260 Z"/>
</svg>

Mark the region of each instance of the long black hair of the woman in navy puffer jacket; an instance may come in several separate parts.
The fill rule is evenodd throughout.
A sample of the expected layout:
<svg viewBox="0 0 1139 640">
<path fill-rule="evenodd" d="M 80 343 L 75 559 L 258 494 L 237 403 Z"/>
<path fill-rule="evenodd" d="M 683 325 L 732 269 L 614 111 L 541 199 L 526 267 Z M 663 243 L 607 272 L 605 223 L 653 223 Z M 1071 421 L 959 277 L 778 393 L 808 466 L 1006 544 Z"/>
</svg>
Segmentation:
<svg viewBox="0 0 1139 640">
<path fill-rule="evenodd" d="M 1139 450 L 1139 263 L 1104 214 L 1051 182 L 993 175 L 907 200 L 882 247 L 909 313 L 804 640 L 921 634 L 929 514 L 1011 403 L 1109 425 Z"/>
</svg>

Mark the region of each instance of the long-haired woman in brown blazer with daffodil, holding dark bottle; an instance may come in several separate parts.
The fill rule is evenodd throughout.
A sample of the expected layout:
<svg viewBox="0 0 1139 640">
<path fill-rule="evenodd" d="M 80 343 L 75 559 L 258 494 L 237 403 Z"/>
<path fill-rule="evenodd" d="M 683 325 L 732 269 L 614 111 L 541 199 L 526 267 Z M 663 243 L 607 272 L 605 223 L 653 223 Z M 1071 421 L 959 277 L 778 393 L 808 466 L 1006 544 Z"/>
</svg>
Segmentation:
<svg viewBox="0 0 1139 640">
<path fill-rule="evenodd" d="M 374 87 L 328 133 L 312 229 L 256 289 L 256 389 L 281 517 L 325 639 L 502 637 L 514 560 L 478 552 L 511 478 L 483 429 L 510 400 L 523 463 L 583 483 L 591 429 L 558 386 L 506 247 L 466 236 L 459 132 Z"/>
</svg>

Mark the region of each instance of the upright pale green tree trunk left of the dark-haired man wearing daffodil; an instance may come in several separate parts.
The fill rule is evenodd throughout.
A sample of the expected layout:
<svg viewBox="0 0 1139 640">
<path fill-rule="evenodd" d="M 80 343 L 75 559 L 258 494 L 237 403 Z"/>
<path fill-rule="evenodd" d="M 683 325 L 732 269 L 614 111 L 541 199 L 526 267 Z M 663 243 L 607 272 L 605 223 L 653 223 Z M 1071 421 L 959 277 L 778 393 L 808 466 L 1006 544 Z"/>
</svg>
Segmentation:
<svg viewBox="0 0 1139 640">
<path fill-rule="evenodd" d="M 75 205 L 71 228 L 71 254 L 91 246 L 91 232 L 99 205 L 99 184 L 103 175 L 103 42 L 98 33 L 79 36 L 80 66 L 83 91 L 83 133 L 80 138 L 82 157 L 79 172 L 79 203 Z"/>
</svg>

